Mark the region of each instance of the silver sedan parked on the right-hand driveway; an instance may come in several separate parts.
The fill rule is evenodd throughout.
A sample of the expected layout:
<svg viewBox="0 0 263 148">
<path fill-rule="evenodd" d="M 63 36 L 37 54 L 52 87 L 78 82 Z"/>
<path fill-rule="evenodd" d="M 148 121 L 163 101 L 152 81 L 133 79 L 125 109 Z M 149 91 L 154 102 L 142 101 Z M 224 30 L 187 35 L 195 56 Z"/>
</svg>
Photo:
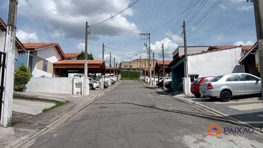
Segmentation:
<svg viewBox="0 0 263 148">
<path fill-rule="evenodd" d="M 220 97 L 227 102 L 232 96 L 261 93 L 261 79 L 247 73 L 226 74 L 200 84 L 199 91 L 211 99 Z"/>
</svg>

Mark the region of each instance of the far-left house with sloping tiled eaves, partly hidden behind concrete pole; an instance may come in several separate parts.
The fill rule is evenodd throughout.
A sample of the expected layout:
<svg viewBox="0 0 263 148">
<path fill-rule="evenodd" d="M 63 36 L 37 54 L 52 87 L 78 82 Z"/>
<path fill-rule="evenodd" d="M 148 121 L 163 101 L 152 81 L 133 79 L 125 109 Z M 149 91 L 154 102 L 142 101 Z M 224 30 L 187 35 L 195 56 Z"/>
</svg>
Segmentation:
<svg viewBox="0 0 263 148">
<path fill-rule="evenodd" d="M 4 52 L 5 48 L 5 34 L 7 31 L 7 24 L 0 18 L 0 51 Z M 15 38 L 15 65 L 18 63 L 18 55 L 28 53 L 24 45 Z"/>
</svg>

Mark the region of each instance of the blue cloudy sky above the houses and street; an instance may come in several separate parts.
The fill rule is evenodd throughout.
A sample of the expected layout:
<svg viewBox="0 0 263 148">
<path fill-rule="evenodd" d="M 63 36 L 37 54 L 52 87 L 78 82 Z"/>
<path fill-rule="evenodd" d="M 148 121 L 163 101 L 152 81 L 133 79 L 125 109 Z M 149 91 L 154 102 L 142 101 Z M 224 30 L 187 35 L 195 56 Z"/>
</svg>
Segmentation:
<svg viewBox="0 0 263 148">
<path fill-rule="evenodd" d="M 85 50 L 87 21 L 88 52 L 95 59 L 102 59 L 104 43 L 106 65 L 109 52 L 112 62 L 115 58 L 118 63 L 140 58 L 139 54 L 147 58 L 144 44 L 149 41 L 140 33 L 151 33 L 155 59 L 162 60 L 164 44 L 164 58 L 172 60 L 172 52 L 178 45 L 183 46 L 183 20 L 187 46 L 253 45 L 257 40 L 253 3 L 246 0 L 222 0 L 214 9 L 209 8 L 216 6 L 213 4 L 217 0 L 140 0 L 114 18 L 95 25 L 135 1 L 18 0 L 16 36 L 22 43 L 33 38 L 31 43 L 59 43 L 64 53 L 81 52 Z M 8 5 L 9 0 L 0 0 L 0 17 L 5 22 Z"/>
</svg>

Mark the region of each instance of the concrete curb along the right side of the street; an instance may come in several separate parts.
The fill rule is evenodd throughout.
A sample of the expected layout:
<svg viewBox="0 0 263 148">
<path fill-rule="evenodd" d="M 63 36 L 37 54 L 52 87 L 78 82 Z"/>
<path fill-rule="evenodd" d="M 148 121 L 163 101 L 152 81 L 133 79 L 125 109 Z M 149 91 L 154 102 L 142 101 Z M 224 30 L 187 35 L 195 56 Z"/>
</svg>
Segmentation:
<svg viewBox="0 0 263 148">
<path fill-rule="evenodd" d="M 144 85 L 146 85 L 146 84 L 144 84 Z M 146 85 L 146 86 L 149 86 L 149 85 Z M 149 86 L 149 87 L 151 87 L 151 86 Z M 155 89 L 155 88 L 153 88 L 153 87 L 151 87 L 151 88 L 154 89 L 154 90 L 157 90 L 157 89 Z M 158 91 L 160 91 L 160 90 L 158 90 Z M 163 91 L 160 91 L 160 92 L 163 92 Z M 229 117 L 229 115 L 226 115 L 226 114 L 224 114 L 224 113 L 221 113 L 221 112 L 219 112 L 219 111 L 216 111 L 216 110 L 214 110 L 214 109 L 211 109 L 211 108 L 209 108 L 209 107 L 206 107 L 206 106 L 204 106 L 204 105 L 202 105 L 202 104 L 196 103 L 196 102 L 194 102 L 194 101 L 192 101 L 192 100 L 187 100 L 187 99 L 184 99 L 184 98 L 180 98 L 180 97 L 177 97 L 177 96 L 173 96 L 173 95 L 168 94 L 168 93 L 166 93 L 166 92 L 163 92 L 163 93 L 165 93 L 165 94 L 167 94 L 167 95 L 169 95 L 169 96 L 171 96 L 171 97 L 174 97 L 174 98 L 176 98 L 176 99 L 182 100 L 182 101 L 184 101 L 184 102 L 190 103 L 190 104 L 192 104 L 192 105 L 194 105 L 194 106 L 196 106 L 196 107 L 199 107 L 199 108 L 201 108 L 201 109 L 206 109 L 206 110 L 212 111 L 213 113 L 219 114 L 219 115 L 221 115 L 221 116 L 223 116 L 223 117 L 225 117 L 225 118 L 227 118 L 227 119 L 233 120 L 233 121 L 241 124 L 241 125 L 244 126 L 244 127 L 253 128 L 254 130 L 256 130 L 256 131 L 257 131 L 258 133 L 260 133 L 261 135 L 263 134 L 263 131 L 260 130 L 259 128 L 254 128 L 254 127 L 248 125 L 248 124 L 245 123 L 245 122 L 242 122 L 242 121 L 239 121 L 239 120 L 234 119 L 234 118 L 232 118 L 232 117 Z M 262 136 L 263 136 L 263 135 L 262 135 Z"/>
</svg>

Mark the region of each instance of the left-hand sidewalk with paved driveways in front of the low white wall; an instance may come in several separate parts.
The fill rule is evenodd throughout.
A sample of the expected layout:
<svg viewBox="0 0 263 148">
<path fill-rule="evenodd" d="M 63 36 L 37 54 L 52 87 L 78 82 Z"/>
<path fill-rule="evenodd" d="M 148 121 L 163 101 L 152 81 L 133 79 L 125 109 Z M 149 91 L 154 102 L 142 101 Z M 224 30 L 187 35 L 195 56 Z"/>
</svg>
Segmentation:
<svg viewBox="0 0 263 148">
<path fill-rule="evenodd" d="M 44 132 L 52 125 L 62 120 L 75 110 L 81 109 L 86 105 L 92 103 L 99 96 L 116 87 L 121 81 L 114 85 L 109 86 L 103 90 L 90 90 L 89 96 L 72 95 L 72 94 L 47 94 L 47 93 L 30 93 L 30 92 L 14 92 L 14 97 L 22 100 L 14 99 L 15 104 L 23 104 L 24 101 L 31 101 L 30 105 L 24 106 L 24 109 L 15 107 L 12 115 L 12 126 L 8 128 L 0 127 L 0 143 L 1 147 L 19 147 L 22 144 L 28 142 L 34 136 Z M 34 101 L 32 102 L 32 99 Z M 36 101 L 37 100 L 37 101 Z M 49 110 L 45 113 L 38 113 L 39 110 L 36 105 L 43 105 L 43 102 L 47 103 L 50 100 L 68 101 L 69 103 Z M 39 102 L 40 101 L 40 102 Z M 51 106 L 50 103 L 45 104 Z M 34 106 L 34 104 L 36 104 Z M 28 111 L 26 108 L 31 108 Z M 42 106 L 43 107 L 43 106 Z M 33 109 L 34 108 L 34 109 Z M 20 111 L 22 113 L 19 113 Z M 24 112 L 24 113 L 23 113 Z M 35 115 L 34 115 L 35 114 Z"/>
</svg>

